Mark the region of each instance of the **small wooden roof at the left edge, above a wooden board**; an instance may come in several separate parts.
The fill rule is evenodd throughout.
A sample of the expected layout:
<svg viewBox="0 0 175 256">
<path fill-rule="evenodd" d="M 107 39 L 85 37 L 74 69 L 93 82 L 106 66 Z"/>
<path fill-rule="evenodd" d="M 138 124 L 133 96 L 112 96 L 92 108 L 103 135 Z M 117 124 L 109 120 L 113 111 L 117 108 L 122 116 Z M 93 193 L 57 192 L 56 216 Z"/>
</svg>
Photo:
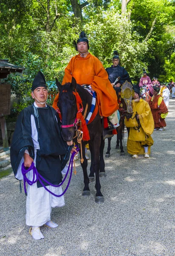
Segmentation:
<svg viewBox="0 0 175 256">
<path fill-rule="evenodd" d="M 11 64 L 8 59 L 0 59 L 0 79 L 6 78 L 10 73 L 22 73 L 23 70 L 25 70 L 25 67 Z"/>
</svg>

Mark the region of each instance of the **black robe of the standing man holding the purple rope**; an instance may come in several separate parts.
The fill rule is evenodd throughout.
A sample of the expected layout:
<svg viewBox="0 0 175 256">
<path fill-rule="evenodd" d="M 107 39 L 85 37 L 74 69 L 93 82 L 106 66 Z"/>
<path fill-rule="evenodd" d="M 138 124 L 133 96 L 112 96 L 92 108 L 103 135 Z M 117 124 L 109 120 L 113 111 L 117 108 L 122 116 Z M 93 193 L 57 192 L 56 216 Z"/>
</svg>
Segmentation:
<svg viewBox="0 0 175 256">
<path fill-rule="evenodd" d="M 31 115 L 33 115 L 40 145 L 36 156 L 37 171 L 50 183 L 59 184 L 62 181 L 61 170 L 69 160 L 72 146 L 69 147 L 61 137 L 60 119 L 55 109 L 49 106 L 35 108 L 34 114 L 34 108 L 33 105 L 29 106 L 23 109 L 18 116 L 10 150 L 11 166 L 16 175 L 26 149 L 34 159 L 31 128 Z M 47 183 L 44 184 L 47 185 Z M 42 186 L 39 181 L 37 181 L 37 186 Z"/>
</svg>

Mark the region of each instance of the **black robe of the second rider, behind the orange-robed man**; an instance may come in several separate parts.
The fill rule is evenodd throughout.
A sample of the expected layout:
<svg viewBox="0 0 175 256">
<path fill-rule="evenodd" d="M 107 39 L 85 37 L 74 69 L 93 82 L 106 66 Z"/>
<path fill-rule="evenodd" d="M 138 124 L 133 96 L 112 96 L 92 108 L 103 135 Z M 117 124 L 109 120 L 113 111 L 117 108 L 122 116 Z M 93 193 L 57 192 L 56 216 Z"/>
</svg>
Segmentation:
<svg viewBox="0 0 175 256">
<path fill-rule="evenodd" d="M 129 74 L 124 67 L 120 67 L 119 65 L 117 67 L 114 67 L 112 65 L 111 67 L 107 67 L 106 71 L 108 73 L 109 81 L 111 83 L 114 83 L 116 78 L 120 76 L 120 80 L 118 81 L 120 84 L 123 84 L 125 81 L 128 81 L 132 84 Z"/>
</svg>

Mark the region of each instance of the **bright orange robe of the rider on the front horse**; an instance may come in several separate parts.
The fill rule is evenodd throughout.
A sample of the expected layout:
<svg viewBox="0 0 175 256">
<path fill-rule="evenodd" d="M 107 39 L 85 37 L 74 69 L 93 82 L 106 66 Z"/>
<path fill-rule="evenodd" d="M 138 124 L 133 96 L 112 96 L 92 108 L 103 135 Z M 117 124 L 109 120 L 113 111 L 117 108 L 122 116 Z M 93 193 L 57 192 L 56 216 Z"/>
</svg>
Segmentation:
<svg viewBox="0 0 175 256">
<path fill-rule="evenodd" d="M 97 93 L 100 116 L 110 116 L 118 109 L 118 100 L 114 88 L 108 79 L 108 73 L 98 58 L 90 53 L 86 58 L 75 55 L 65 68 L 62 84 L 72 81 L 72 76 L 77 84 L 90 84 Z M 57 101 L 57 96 L 55 98 Z"/>
</svg>

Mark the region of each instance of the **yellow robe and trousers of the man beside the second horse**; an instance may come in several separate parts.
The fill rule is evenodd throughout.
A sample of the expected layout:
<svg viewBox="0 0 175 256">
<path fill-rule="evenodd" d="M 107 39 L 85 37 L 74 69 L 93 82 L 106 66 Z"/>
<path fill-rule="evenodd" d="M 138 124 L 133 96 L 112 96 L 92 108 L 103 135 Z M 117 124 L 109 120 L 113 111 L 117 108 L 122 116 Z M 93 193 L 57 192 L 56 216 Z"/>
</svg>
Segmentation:
<svg viewBox="0 0 175 256">
<path fill-rule="evenodd" d="M 148 153 L 150 154 L 150 147 L 153 145 L 151 134 L 154 131 L 154 119 L 152 117 L 149 104 L 140 99 L 139 102 L 132 101 L 133 115 L 132 118 L 125 118 L 126 127 L 130 127 L 129 137 L 127 141 L 127 151 L 129 154 L 144 154 L 143 145 L 149 145 Z M 136 129 L 138 122 L 135 114 L 139 114 L 141 122 L 140 132 Z"/>
</svg>

